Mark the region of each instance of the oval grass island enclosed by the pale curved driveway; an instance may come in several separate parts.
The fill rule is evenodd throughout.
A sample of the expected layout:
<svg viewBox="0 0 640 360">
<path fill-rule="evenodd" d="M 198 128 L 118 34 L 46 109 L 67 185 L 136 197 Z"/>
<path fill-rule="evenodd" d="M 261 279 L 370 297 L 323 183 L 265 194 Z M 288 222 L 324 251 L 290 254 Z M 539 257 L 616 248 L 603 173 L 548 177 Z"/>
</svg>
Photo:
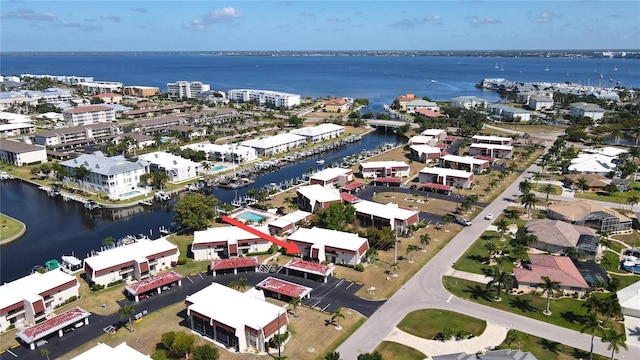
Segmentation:
<svg viewBox="0 0 640 360">
<path fill-rule="evenodd" d="M 464 331 L 480 336 L 486 327 L 487 322 L 484 320 L 452 311 L 432 309 L 413 311 L 398 324 L 398 329 L 424 339 L 432 339 L 445 328 L 454 333 Z"/>
</svg>

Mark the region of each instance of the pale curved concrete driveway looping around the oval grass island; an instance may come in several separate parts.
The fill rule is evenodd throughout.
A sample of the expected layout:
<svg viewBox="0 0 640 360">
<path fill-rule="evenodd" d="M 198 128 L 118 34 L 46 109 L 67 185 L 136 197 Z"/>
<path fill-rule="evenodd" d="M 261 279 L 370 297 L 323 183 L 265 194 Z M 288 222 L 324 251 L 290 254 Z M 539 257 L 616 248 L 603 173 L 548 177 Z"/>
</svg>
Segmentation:
<svg viewBox="0 0 640 360">
<path fill-rule="evenodd" d="M 485 352 L 500 345 L 507 337 L 509 329 L 487 323 L 487 327 L 480 336 L 476 336 L 467 340 L 449 340 L 445 342 L 427 340 L 415 335 L 406 333 L 398 328 L 391 330 L 384 340 L 393 341 L 412 347 L 428 357 L 444 354 L 455 354 L 466 352 L 467 354 L 475 354 L 477 352 Z"/>
</svg>

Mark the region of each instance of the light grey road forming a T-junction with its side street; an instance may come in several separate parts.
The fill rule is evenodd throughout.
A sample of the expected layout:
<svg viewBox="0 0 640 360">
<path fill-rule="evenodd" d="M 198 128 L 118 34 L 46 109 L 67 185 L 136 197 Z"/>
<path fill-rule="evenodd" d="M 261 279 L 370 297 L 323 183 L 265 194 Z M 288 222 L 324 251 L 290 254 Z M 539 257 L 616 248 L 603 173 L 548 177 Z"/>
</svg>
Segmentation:
<svg viewBox="0 0 640 360">
<path fill-rule="evenodd" d="M 355 333 L 353 333 L 337 351 L 343 359 L 356 359 L 359 354 L 372 352 L 395 326 L 408 313 L 419 309 L 445 309 L 470 315 L 487 322 L 504 327 L 513 327 L 519 331 L 539 336 L 544 339 L 561 342 L 562 344 L 589 351 L 591 336 L 578 331 L 569 330 L 534 320 L 514 313 L 497 310 L 488 306 L 463 300 L 451 295 L 442 285 L 442 277 L 452 263 L 460 257 L 491 224 L 491 221 L 481 220 L 486 214 L 501 213 L 513 203 L 505 200 L 520 194 L 518 184 L 524 178 L 529 178 L 539 171 L 532 165 L 527 171 L 514 181 L 499 197 L 488 205 L 477 217 L 473 224 L 462 229 L 450 243 L 431 259 L 416 275 L 414 275 L 402 289 L 398 290 L 375 314 L 373 314 Z M 553 307 L 551 308 L 553 311 Z M 627 343 L 629 350 L 621 349 L 619 358 L 635 358 L 640 353 L 637 342 Z M 599 338 L 595 339 L 594 352 L 610 356 L 607 344 Z M 632 354 L 636 354 L 633 356 Z M 430 355 L 430 354 L 425 354 Z"/>
</svg>

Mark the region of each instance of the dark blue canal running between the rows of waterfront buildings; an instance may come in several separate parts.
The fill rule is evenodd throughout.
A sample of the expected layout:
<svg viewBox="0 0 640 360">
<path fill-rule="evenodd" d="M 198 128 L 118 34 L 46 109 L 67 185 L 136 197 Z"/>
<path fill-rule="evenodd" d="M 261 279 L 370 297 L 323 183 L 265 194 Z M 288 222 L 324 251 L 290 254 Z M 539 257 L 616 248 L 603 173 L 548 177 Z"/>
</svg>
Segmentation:
<svg viewBox="0 0 640 360">
<path fill-rule="evenodd" d="M 220 188 L 213 188 L 212 193 L 223 202 L 231 202 L 235 196 L 246 194 L 248 189 L 301 177 L 308 168 L 319 168 L 316 165 L 318 159 L 324 159 L 329 165 L 345 156 L 374 150 L 395 141 L 392 132 L 374 132 L 358 142 L 260 174 L 254 177 L 254 184 L 238 189 L 237 194 Z M 92 250 L 99 250 L 102 240 L 109 236 L 119 239 L 128 234 L 142 233 L 157 238 L 160 227 L 171 229 L 174 202 L 154 204 L 150 208 L 134 206 L 88 212 L 80 203 L 50 198 L 31 184 L 19 180 L 0 182 L 0 210 L 27 226 L 22 238 L 0 247 L 0 283 L 25 276 L 35 265 L 43 265 L 50 259 L 60 261 L 62 255 L 73 253 L 83 259 Z"/>
</svg>

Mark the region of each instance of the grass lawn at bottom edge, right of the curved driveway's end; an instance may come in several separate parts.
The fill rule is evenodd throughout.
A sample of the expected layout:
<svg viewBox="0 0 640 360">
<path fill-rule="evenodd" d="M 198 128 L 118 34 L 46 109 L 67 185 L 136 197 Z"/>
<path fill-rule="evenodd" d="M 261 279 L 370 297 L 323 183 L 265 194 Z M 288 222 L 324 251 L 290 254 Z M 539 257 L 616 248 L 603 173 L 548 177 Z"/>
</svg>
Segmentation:
<svg viewBox="0 0 640 360">
<path fill-rule="evenodd" d="M 556 360 L 572 360 L 572 359 L 587 359 L 589 352 L 575 349 L 559 342 L 539 338 L 531 334 L 526 334 L 514 331 L 517 335 L 517 340 L 510 343 L 507 339 L 498 345 L 498 349 L 518 349 L 522 351 L 531 352 L 538 359 L 556 359 Z M 608 359 L 605 356 L 598 354 L 593 355 L 594 360 Z"/>
</svg>

